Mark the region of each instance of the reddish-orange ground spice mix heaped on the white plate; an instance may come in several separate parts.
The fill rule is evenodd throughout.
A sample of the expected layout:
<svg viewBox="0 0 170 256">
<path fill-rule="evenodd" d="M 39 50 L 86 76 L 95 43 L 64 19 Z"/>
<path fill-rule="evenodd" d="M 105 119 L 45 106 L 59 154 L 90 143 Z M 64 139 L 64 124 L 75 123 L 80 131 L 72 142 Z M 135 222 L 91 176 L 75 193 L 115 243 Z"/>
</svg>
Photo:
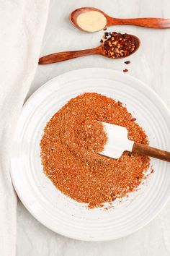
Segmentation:
<svg viewBox="0 0 170 256">
<path fill-rule="evenodd" d="M 89 208 L 135 191 L 145 179 L 149 158 L 124 152 L 119 159 L 99 155 L 107 135 L 99 121 L 128 129 L 130 140 L 148 144 L 143 129 L 120 101 L 98 93 L 72 98 L 48 121 L 40 142 L 43 171 L 55 187 Z"/>
</svg>

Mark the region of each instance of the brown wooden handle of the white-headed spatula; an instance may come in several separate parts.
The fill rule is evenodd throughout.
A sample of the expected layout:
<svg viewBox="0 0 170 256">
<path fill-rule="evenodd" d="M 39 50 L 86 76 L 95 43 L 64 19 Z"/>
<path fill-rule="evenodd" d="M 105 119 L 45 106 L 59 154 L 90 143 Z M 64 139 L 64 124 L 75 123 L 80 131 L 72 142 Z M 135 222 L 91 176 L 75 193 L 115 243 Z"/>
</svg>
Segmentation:
<svg viewBox="0 0 170 256">
<path fill-rule="evenodd" d="M 167 162 L 170 162 L 170 152 L 160 150 L 158 148 L 151 148 L 148 145 L 143 145 L 134 142 L 132 152 L 138 153 L 140 155 L 148 155 L 153 158 L 158 158 Z"/>
</svg>

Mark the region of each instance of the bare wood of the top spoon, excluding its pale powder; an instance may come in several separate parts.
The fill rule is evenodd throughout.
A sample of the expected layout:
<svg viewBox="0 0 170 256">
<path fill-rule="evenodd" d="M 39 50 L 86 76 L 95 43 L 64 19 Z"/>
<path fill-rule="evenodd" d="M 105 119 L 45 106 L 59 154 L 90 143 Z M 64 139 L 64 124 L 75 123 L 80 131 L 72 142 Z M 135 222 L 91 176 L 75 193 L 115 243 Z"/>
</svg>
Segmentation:
<svg viewBox="0 0 170 256">
<path fill-rule="evenodd" d="M 77 23 L 77 18 L 80 14 L 84 14 L 86 12 L 96 11 L 104 15 L 106 18 L 106 25 L 104 27 L 100 27 L 98 30 L 102 30 L 105 27 L 109 27 L 112 25 L 135 25 L 140 27 L 153 27 L 153 28 L 168 28 L 170 27 L 170 20 L 169 19 L 161 19 L 161 18 L 135 18 L 135 19 L 117 19 L 113 17 L 109 17 L 107 14 L 102 12 L 100 9 L 94 7 L 82 7 L 79 9 L 74 10 L 70 14 L 70 20 L 73 25 L 79 30 L 84 30 L 83 27 L 80 27 Z M 84 30 L 86 32 L 92 32 L 90 30 Z M 97 31 L 97 30 L 93 30 Z"/>
</svg>

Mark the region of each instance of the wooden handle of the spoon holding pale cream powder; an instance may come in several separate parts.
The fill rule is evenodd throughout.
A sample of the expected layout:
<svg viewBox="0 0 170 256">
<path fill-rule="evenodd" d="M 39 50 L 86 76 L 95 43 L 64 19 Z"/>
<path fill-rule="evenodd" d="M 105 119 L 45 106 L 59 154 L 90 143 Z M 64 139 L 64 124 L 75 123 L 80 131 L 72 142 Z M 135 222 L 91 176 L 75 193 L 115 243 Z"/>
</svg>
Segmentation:
<svg viewBox="0 0 170 256">
<path fill-rule="evenodd" d="M 168 28 L 170 27 L 170 20 L 161 18 L 115 19 L 109 17 L 108 25 L 135 25 L 140 27 Z"/>
</svg>

